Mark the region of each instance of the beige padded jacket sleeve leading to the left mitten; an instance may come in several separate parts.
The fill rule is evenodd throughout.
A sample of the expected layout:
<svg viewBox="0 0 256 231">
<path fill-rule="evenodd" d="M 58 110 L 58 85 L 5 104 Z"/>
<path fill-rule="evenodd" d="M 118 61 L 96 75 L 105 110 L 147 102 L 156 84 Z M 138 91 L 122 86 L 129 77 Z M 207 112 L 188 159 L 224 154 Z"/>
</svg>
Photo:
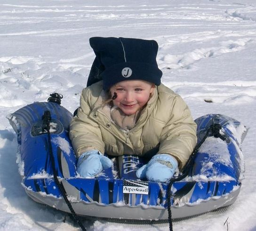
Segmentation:
<svg viewBox="0 0 256 231">
<path fill-rule="evenodd" d="M 104 153 L 104 142 L 99 125 L 89 117 L 90 113 L 92 113 L 90 97 L 90 88 L 84 88 L 80 97 L 80 107 L 77 115 L 70 124 L 69 136 L 77 157 L 83 152 L 92 149 Z"/>
</svg>

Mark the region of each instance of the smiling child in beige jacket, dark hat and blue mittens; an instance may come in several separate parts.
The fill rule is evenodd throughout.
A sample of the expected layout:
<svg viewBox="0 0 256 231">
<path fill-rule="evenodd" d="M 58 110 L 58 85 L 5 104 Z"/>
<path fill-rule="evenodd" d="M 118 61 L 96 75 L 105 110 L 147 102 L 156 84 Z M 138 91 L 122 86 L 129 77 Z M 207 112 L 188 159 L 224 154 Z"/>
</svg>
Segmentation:
<svg viewBox="0 0 256 231">
<path fill-rule="evenodd" d="M 196 145 L 196 124 L 183 99 L 160 82 L 154 40 L 90 39 L 96 59 L 70 125 L 77 171 L 93 177 L 124 154 L 153 157 L 140 179 L 166 182 L 184 166 Z"/>
</svg>

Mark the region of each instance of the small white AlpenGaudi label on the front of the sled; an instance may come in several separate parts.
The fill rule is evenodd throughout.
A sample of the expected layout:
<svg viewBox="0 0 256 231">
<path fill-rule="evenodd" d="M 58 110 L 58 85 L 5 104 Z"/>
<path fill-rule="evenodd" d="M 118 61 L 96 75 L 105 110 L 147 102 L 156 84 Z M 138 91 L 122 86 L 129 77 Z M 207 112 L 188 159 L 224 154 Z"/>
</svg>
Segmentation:
<svg viewBox="0 0 256 231">
<path fill-rule="evenodd" d="M 124 180 L 123 193 L 136 193 L 148 195 L 148 183 Z"/>
</svg>

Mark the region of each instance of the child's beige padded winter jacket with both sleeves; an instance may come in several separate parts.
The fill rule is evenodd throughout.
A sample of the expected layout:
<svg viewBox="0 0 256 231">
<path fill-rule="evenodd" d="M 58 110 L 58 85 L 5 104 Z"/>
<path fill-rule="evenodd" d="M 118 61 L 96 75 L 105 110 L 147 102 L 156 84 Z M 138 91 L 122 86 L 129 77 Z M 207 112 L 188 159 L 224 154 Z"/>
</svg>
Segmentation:
<svg viewBox="0 0 256 231">
<path fill-rule="evenodd" d="M 102 81 L 84 88 L 80 108 L 70 125 L 72 146 L 79 157 L 96 149 L 108 155 L 168 153 L 182 168 L 196 145 L 196 124 L 183 99 L 161 84 L 141 112 L 135 127 L 121 129 L 105 104 Z M 104 106 L 103 106 L 104 105 Z"/>
</svg>

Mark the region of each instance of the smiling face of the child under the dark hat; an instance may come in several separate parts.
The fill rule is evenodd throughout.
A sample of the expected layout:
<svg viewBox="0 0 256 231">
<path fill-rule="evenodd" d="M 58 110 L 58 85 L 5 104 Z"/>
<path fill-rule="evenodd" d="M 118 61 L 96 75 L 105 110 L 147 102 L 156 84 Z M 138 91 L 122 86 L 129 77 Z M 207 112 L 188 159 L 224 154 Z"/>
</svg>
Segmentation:
<svg viewBox="0 0 256 231">
<path fill-rule="evenodd" d="M 112 96 L 117 93 L 113 104 L 125 114 L 132 115 L 148 102 L 154 88 L 154 84 L 143 80 L 126 80 L 112 86 L 110 91 Z"/>
</svg>

